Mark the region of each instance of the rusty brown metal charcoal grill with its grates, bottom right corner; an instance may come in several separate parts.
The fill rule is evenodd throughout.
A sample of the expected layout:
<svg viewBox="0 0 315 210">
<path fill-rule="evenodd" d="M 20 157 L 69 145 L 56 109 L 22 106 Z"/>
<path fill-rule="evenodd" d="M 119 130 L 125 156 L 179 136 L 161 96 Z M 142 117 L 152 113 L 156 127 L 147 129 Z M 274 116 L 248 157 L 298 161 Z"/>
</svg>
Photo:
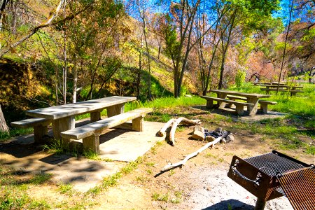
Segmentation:
<svg viewBox="0 0 315 210">
<path fill-rule="evenodd" d="M 272 151 L 252 158 L 234 156 L 228 177 L 255 195 L 255 209 L 286 196 L 294 209 L 315 209 L 315 167 Z"/>
</svg>

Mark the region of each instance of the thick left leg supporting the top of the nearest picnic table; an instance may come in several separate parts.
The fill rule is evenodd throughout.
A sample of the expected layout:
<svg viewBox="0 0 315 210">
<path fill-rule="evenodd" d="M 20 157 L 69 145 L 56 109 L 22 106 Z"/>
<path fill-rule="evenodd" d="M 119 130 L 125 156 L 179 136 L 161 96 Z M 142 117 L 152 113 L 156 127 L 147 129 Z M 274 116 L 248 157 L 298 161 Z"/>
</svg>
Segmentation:
<svg viewBox="0 0 315 210">
<path fill-rule="evenodd" d="M 62 139 L 60 133 L 73 129 L 75 124 L 76 120 L 73 116 L 52 120 L 52 130 L 54 132 L 55 139 Z"/>
</svg>

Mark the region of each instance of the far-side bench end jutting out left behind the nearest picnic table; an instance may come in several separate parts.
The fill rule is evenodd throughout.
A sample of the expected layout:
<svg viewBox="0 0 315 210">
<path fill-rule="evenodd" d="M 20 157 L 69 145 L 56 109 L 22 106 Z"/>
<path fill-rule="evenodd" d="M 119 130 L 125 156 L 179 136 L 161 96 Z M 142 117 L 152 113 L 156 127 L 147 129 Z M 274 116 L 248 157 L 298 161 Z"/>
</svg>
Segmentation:
<svg viewBox="0 0 315 210">
<path fill-rule="evenodd" d="M 11 126 L 19 128 L 33 127 L 34 141 L 39 143 L 42 137 L 48 134 L 48 125 L 50 125 L 51 122 L 51 120 L 47 120 L 45 118 L 29 118 L 12 122 Z"/>
</svg>

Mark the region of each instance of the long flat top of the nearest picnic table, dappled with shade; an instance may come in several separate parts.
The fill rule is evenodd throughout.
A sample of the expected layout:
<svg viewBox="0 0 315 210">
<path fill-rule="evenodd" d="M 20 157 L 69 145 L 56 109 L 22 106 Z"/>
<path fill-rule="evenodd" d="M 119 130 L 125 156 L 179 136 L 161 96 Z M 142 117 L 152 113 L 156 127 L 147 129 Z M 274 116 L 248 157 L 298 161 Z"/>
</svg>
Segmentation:
<svg viewBox="0 0 315 210">
<path fill-rule="evenodd" d="M 66 118 L 69 116 L 76 116 L 83 113 L 90 113 L 97 110 L 102 110 L 109 106 L 118 104 L 125 104 L 136 100 L 136 97 L 104 97 L 101 99 L 92 99 L 85 102 L 78 102 L 74 104 L 64 104 L 61 106 L 51 106 L 42 109 L 34 109 L 26 111 L 27 116 L 35 118 L 46 118 L 57 120 L 59 118 Z"/>
</svg>

